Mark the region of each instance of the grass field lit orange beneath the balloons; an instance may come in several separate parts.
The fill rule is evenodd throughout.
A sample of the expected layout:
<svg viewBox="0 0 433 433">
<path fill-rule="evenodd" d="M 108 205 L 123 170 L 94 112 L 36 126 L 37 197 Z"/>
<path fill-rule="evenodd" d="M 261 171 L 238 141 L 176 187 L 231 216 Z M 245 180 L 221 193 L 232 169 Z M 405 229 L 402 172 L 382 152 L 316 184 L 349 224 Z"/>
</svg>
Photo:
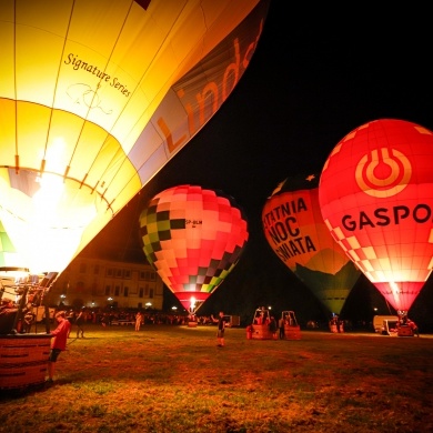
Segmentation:
<svg viewBox="0 0 433 433">
<path fill-rule="evenodd" d="M 215 332 L 88 325 L 53 385 L 2 393 L 0 432 L 433 431 L 431 336 Z"/>
</svg>

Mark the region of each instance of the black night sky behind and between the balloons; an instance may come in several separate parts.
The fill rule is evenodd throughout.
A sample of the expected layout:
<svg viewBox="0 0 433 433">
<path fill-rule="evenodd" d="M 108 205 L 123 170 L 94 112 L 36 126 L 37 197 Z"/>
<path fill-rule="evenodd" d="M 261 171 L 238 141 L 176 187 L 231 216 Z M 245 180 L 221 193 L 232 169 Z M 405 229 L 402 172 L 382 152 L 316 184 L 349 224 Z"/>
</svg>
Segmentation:
<svg viewBox="0 0 433 433">
<path fill-rule="evenodd" d="M 138 218 L 154 194 L 181 183 L 220 189 L 245 210 L 250 240 L 240 263 L 208 301 L 210 308 L 230 299 L 225 310 L 235 310 L 233 302 L 254 309 L 286 294 L 285 309 L 320 314 L 308 289 L 264 240 L 264 201 L 286 177 L 320 171 L 334 145 L 367 121 L 403 119 L 433 130 L 427 17 L 426 10 L 407 4 L 380 12 L 364 3 L 362 9 L 305 4 L 291 10 L 290 3 L 271 1 L 262 39 L 233 93 L 84 253 L 144 260 Z M 349 301 L 365 302 L 362 294 Z"/>
</svg>

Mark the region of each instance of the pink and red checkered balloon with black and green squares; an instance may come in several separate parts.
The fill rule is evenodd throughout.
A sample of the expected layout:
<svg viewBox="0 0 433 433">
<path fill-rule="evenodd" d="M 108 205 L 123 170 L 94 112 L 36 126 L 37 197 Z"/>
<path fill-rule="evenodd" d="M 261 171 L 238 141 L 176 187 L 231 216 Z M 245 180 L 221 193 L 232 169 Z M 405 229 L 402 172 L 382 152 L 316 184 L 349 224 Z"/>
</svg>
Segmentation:
<svg viewBox="0 0 433 433">
<path fill-rule="evenodd" d="M 234 199 L 198 185 L 160 192 L 139 220 L 149 263 L 191 313 L 233 270 L 249 238 Z"/>
</svg>

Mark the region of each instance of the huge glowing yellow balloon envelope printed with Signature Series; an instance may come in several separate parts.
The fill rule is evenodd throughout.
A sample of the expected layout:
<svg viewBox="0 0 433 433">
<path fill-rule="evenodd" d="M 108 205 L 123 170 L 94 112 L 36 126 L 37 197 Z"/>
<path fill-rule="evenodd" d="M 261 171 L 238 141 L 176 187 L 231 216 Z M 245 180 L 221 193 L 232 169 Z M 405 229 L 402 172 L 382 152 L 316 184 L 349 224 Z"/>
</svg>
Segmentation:
<svg viewBox="0 0 433 433">
<path fill-rule="evenodd" d="M 259 0 L 1 2 L 0 220 L 33 272 L 64 269 L 212 118 L 266 11 Z"/>
</svg>

